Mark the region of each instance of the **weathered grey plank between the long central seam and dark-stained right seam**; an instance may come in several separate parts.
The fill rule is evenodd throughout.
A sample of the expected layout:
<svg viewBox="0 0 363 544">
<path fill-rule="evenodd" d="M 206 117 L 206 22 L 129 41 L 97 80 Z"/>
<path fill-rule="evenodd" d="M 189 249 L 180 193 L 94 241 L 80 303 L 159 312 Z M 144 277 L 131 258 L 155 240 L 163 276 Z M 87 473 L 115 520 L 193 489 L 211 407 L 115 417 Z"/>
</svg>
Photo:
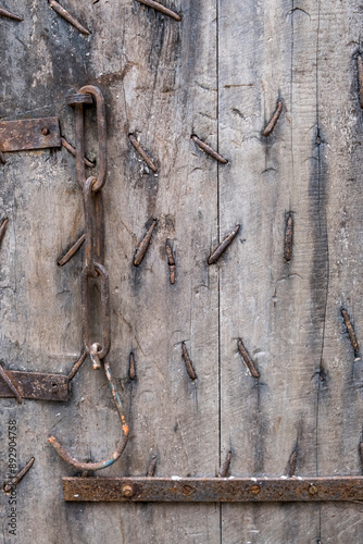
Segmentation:
<svg viewBox="0 0 363 544">
<path fill-rule="evenodd" d="M 316 311 L 326 262 L 317 255 L 311 194 L 317 11 L 314 2 L 296 10 L 268 0 L 218 5 L 220 151 L 229 160 L 218 171 L 221 238 L 241 223 L 220 261 L 222 457 L 231 450 L 235 477 L 314 474 L 323 327 Z M 286 260 L 289 212 L 295 230 Z M 259 378 L 245 367 L 238 338 Z M 302 543 L 318 535 L 311 505 L 223 505 L 222 518 L 224 542 Z"/>
</svg>

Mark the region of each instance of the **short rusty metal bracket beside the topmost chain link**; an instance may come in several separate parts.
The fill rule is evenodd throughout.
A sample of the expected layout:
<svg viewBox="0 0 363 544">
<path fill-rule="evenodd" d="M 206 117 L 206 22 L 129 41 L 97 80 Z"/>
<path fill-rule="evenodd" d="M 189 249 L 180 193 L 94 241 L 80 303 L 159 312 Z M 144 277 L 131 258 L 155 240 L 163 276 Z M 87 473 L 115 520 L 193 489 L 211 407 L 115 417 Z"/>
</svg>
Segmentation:
<svg viewBox="0 0 363 544">
<path fill-rule="evenodd" d="M 59 118 L 0 122 L 0 151 L 61 147 Z"/>
</svg>

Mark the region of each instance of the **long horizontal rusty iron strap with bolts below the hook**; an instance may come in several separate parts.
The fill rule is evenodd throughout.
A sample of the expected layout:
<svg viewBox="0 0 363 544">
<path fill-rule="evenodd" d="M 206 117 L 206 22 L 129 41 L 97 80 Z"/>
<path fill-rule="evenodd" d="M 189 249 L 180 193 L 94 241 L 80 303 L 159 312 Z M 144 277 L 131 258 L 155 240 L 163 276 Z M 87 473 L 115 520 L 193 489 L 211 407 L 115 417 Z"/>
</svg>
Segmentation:
<svg viewBox="0 0 363 544">
<path fill-rule="evenodd" d="M 363 500 L 363 477 L 63 478 L 63 497 L 160 503 Z"/>
</svg>

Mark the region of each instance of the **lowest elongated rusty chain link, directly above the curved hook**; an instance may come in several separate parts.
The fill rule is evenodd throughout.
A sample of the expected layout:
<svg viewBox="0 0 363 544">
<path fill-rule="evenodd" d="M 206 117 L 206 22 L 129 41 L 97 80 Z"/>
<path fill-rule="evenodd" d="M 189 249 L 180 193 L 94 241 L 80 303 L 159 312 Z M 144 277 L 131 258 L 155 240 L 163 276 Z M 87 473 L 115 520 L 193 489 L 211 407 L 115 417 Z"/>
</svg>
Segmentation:
<svg viewBox="0 0 363 544">
<path fill-rule="evenodd" d="M 102 302 L 102 343 L 98 357 L 103 359 L 111 348 L 111 308 L 110 308 L 110 281 L 105 268 L 99 262 L 95 262 L 95 270 L 101 276 L 101 302 Z M 83 310 L 83 335 L 84 346 L 88 354 L 91 353 L 91 304 L 89 297 L 88 279 L 89 272 L 85 268 L 82 273 L 82 310 Z"/>
</svg>

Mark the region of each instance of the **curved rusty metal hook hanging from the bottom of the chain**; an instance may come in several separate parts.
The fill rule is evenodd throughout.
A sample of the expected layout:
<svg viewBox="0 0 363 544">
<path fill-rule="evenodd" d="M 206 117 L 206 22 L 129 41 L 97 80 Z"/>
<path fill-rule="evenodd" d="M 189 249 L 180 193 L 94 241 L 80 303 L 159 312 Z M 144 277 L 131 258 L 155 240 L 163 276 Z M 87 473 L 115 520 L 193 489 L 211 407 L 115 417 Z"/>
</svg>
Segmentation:
<svg viewBox="0 0 363 544">
<path fill-rule="evenodd" d="M 67 450 L 58 442 L 55 436 L 50 436 L 48 438 L 49 444 L 51 444 L 53 446 L 53 448 L 55 449 L 58 455 L 60 455 L 65 462 L 67 462 L 68 465 L 71 465 L 72 467 L 74 467 L 75 469 L 78 469 L 78 470 L 95 471 L 95 470 L 101 470 L 101 469 L 105 469 L 107 467 L 110 467 L 120 458 L 120 456 L 122 455 L 122 453 L 124 452 L 124 449 L 126 447 L 127 440 L 128 440 L 128 425 L 125 421 L 125 417 L 124 417 L 123 411 L 122 411 L 121 398 L 120 398 L 120 395 L 117 392 L 116 384 L 115 384 L 115 382 L 112 378 L 112 374 L 111 374 L 110 364 L 105 360 L 103 360 L 103 368 L 104 368 L 105 376 L 107 376 L 108 382 L 109 382 L 109 386 L 110 386 L 110 390 L 112 393 L 113 400 L 114 400 L 116 408 L 117 408 L 117 412 L 118 412 L 118 417 L 120 417 L 120 421 L 121 421 L 121 426 L 122 426 L 122 432 L 123 432 L 122 437 L 118 441 L 116 450 L 112 454 L 112 456 L 109 459 L 107 459 L 104 461 L 83 462 L 83 461 L 78 461 L 75 457 L 72 457 L 67 453 Z"/>
</svg>

